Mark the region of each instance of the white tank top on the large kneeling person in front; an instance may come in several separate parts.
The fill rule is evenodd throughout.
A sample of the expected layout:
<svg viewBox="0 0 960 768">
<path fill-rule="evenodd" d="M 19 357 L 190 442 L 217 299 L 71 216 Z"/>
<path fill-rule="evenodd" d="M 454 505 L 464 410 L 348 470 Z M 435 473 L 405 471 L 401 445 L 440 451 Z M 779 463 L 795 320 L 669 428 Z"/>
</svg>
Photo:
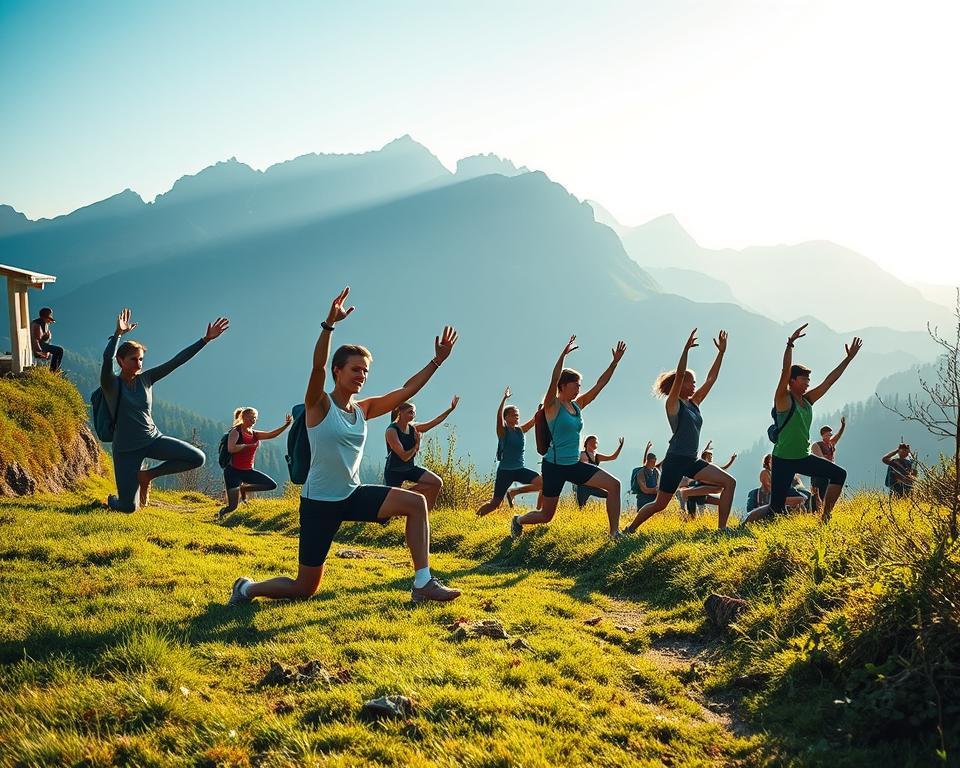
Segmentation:
<svg viewBox="0 0 960 768">
<path fill-rule="evenodd" d="M 360 487 L 367 422 L 358 405 L 354 404 L 349 414 L 330 397 L 327 415 L 317 426 L 307 427 L 307 438 L 310 470 L 301 496 L 313 501 L 342 501 Z"/>
</svg>

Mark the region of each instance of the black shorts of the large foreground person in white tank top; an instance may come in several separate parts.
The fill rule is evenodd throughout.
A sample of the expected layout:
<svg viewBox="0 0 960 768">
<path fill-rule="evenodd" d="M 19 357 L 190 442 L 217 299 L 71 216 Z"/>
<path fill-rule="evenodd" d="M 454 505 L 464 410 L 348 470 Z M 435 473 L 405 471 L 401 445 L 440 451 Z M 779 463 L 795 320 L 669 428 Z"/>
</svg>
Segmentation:
<svg viewBox="0 0 960 768">
<path fill-rule="evenodd" d="M 379 519 L 380 507 L 390 489 L 385 485 L 361 485 L 341 501 L 316 501 L 300 497 L 300 565 L 323 565 L 340 523 L 387 523 Z"/>
</svg>

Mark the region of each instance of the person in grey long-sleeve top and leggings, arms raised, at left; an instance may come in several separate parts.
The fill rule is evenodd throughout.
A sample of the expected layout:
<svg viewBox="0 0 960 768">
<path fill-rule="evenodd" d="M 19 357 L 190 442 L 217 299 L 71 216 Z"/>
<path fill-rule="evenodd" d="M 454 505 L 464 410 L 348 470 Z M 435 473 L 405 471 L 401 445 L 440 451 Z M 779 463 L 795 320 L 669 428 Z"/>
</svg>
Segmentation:
<svg viewBox="0 0 960 768">
<path fill-rule="evenodd" d="M 147 503 L 150 483 L 162 475 L 186 472 L 203 465 L 203 451 L 175 437 L 160 433 L 153 423 L 153 385 L 183 365 L 210 341 L 229 327 L 225 317 L 218 317 L 207 326 L 202 339 L 162 365 L 143 370 L 146 347 L 136 341 L 120 343 L 120 337 L 137 327 L 130 322 L 130 310 L 117 315 L 117 329 L 103 351 L 100 368 L 100 387 L 110 415 L 116 421 L 113 432 L 113 471 L 117 480 L 117 495 L 111 495 L 107 504 L 120 512 L 133 512 Z M 120 366 L 120 375 L 113 372 L 113 361 Z M 162 463 L 141 470 L 144 459 L 159 459 Z"/>
</svg>

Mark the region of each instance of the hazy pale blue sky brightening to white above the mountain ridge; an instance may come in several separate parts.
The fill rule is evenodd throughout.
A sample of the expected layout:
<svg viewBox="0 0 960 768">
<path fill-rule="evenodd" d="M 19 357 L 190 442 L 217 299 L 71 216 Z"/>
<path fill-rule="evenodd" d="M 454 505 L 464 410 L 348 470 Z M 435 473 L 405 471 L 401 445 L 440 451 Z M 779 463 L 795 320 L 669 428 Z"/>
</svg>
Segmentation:
<svg viewBox="0 0 960 768">
<path fill-rule="evenodd" d="M 960 281 L 958 7 L 0 0 L 0 202 L 150 200 L 409 133 L 707 246 L 826 238 Z"/>
</svg>

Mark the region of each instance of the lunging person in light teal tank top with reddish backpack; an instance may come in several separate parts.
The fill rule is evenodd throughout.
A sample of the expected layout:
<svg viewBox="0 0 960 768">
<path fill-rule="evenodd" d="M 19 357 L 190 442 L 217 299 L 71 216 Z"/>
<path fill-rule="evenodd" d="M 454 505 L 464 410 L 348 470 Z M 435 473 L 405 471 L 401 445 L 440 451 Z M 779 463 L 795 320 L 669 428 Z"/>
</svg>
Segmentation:
<svg viewBox="0 0 960 768">
<path fill-rule="evenodd" d="M 516 538 L 523 533 L 523 526 L 549 523 L 557 511 L 560 493 L 565 483 L 586 485 L 607 492 L 607 520 L 611 538 L 620 537 L 620 481 L 600 467 L 580 461 L 580 431 L 583 429 L 581 411 L 596 399 L 603 390 L 617 363 L 627 351 L 627 345 L 618 341 L 611 350 L 613 359 L 597 379 L 593 387 L 580 394 L 580 373 L 564 368 L 563 361 L 577 348 L 577 337 L 571 336 L 563 348 L 557 364 L 553 367 L 550 386 L 543 399 L 543 415 L 550 428 L 550 446 L 543 457 L 543 507 L 514 515 L 510 521 L 510 534 Z"/>
</svg>

